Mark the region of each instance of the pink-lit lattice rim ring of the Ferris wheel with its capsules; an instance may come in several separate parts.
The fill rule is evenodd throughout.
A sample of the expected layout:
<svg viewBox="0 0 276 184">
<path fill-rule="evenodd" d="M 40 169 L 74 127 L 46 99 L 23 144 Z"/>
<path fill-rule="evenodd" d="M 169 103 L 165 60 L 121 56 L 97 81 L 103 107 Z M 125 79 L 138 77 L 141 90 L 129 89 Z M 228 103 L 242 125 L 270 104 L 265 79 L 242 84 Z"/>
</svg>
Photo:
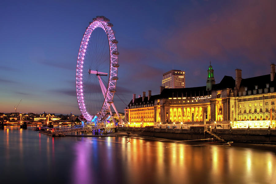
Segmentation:
<svg viewBox="0 0 276 184">
<path fill-rule="evenodd" d="M 89 23 L 89 26 L 86 28 L 85 33 L 83 34 L 81 45 L 79 48 L 79 54 L 77 58 L 77 69 L 76 69 L 76 91 L 77 91 L 77 101 L 79 104 L 79 109 L 86 121 L 91 121 L 95 116 L 97 119 L 102 119 L 106 113 L 110 109 L 110 104 L 113 103 L 113 96 L 117 83 L 117 68 L 118 68 L 118 51 L 117 51 L 117 43 L 118 41 L 115 39 L 114 32 L 112 30 L 113 24 L 109 22 L 109 19 L 104 16 L 97 16 L 97 18 L 93 18 L 93 22 Z M 85 99 L 83 98 L 83 86 L 82 86 L 82 68 L 83 63 L 85 62 L 85 51 L 86 46 L 89 43 L 89 38 L 92 32 L 96 28 L 104 29 L 109 42 L 109 80 L 108 86 L 105 93 L 105 99 L 102 105 L 102 108 L 99 110 L 98 114 L 92 117 L 87 110 L 85 105 Z"/>
</svg>

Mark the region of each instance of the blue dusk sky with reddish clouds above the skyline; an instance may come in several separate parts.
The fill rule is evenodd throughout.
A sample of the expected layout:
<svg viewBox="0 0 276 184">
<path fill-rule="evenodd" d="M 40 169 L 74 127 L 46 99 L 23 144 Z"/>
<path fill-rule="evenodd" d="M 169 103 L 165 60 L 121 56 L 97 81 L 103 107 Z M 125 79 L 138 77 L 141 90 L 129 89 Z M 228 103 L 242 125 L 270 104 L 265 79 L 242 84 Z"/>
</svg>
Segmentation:
<svg viewBox="0 0 276 184">
<path fill-rule="evenodd" d="M 186 71 L 186 87 L 270 73 L 276 62 L 276 1 L 1 1 L 0 112 L 80 114 L 75 69 L 92 18 L 113 23 L 118 43 L 117 95 L 128 104 L 162 74 Z M 117 97 L 119 112 L 125 104 Z"/>
</svg>

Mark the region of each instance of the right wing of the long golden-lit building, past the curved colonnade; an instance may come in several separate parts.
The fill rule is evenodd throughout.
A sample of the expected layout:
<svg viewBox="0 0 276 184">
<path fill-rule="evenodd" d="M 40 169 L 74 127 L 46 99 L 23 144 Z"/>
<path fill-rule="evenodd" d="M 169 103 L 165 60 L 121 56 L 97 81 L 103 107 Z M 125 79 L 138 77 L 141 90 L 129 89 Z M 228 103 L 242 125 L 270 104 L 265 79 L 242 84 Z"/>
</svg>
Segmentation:
<svg viewBox="0 0 276 184">
<path fill-rule="evenodd" d="M 270 65 L 270 74 L 241 78 L 236 69 L 236 108 L 233 127 L 274 127 L 275 119 L 275 65 Z"/>
</svg>

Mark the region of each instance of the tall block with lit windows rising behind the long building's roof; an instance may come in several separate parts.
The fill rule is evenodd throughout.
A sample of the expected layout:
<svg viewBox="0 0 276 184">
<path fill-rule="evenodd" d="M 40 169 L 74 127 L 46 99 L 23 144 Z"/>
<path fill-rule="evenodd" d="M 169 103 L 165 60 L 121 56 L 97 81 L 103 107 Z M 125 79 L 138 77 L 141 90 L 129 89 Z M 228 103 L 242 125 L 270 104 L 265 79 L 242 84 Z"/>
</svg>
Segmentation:
<svg viewBox="0 0 276 184">
<path fill-rule="evenodd" d="M 162 86 L 165 88 L 185 88 L 185 72 L 171 70 L 163 74 Z"/>
</svg>

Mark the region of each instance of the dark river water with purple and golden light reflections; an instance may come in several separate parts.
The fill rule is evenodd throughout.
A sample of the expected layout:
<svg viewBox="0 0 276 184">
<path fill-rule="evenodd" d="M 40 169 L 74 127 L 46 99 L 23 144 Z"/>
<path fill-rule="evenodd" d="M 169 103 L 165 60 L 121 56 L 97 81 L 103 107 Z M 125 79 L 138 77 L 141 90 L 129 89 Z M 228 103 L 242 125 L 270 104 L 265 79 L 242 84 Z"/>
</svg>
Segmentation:
<svg viewBox="0 0 276 184">
<path fill-rule="evenodd" d="M 276 183 L 275 151 L 240 145 L 52 138 L 31 127 L 5 127 L 0 139 L 0 183 Z"/>
</svg>

